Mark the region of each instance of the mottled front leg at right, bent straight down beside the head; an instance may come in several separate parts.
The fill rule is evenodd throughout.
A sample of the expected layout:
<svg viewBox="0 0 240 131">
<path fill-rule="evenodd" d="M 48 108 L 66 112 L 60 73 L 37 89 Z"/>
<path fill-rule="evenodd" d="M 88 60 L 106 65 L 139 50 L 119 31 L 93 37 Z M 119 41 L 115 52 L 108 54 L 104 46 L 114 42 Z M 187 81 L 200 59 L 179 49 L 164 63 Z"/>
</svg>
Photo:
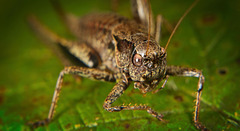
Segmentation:
<svg viewBox="0 0 240 131">
<path fill-rule="evenodd" d="M 193 120 L 194 120 L 195 126 L 198 129 L 204 129 L 205 126 L 203 126 L 199 122 L 200 98 L 201 98 L 203 84 L 204 84 L 204 76 L 202 75 L 202 72 L 198 69 L 193 69 L 193 68 L 186 68 L 186 67 L 180 67 L 180 66 L 168 66 L 166 74 L 170 75 L 170 76 L 189 76 L 189 77 L 198 77 L 199 78 Z"/>
</svg>

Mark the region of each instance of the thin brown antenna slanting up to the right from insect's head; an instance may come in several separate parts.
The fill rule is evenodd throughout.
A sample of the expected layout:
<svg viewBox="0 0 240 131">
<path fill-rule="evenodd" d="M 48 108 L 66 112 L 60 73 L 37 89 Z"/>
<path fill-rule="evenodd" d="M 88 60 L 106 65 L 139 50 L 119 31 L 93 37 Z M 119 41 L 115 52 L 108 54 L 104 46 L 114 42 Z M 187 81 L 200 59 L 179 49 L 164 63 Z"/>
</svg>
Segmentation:
<svg viewBox="0 0 240 131">
<path fill-rule="evenodd" d="M 173 29 L 173 31 L 172 31 L 169 39 L 168 39 L 168 42 L 167 42 L 167 44 L 166 44 L 166 46 L 165 46 L 165 52 L 166 52 L 166 50 L 167 50 L 167 47 L 168 47 L 168 45 L 169 45 L 169 43 L 170 43 L 170 41 L 171 41 L 174 33 L 176 32 L 178 26 L 179 26 L 180 23 L 182 22 L 183 18 L 189 13 L 189 11 L 192 10 L 192 8 L 198 3 L 198 1 L 199 1 L 199 0 L 195 0 L 194 3 L 185 11 L 185 13 L 183 14 L 183 16 L 178 20 L 178 23 L 177 23 L 176 26 L 174 27 L 174 29 Z"/>
</svg>

